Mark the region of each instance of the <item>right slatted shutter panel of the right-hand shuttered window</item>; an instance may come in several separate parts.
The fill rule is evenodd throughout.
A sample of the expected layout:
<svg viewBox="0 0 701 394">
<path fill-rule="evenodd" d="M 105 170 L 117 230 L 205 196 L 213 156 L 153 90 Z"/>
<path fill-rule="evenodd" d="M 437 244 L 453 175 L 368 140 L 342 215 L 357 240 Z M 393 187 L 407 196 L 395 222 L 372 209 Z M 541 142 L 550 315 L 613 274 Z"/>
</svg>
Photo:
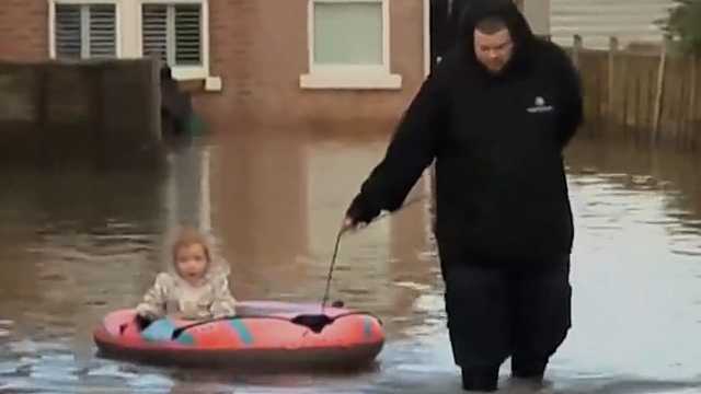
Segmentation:
<svg viewBox="0 0 701 394">
<path fill-rule="evenodd" d="M 175 5 L 175 65 L 202 65 L 202 12 L 198 4 Z"/>
</svg>

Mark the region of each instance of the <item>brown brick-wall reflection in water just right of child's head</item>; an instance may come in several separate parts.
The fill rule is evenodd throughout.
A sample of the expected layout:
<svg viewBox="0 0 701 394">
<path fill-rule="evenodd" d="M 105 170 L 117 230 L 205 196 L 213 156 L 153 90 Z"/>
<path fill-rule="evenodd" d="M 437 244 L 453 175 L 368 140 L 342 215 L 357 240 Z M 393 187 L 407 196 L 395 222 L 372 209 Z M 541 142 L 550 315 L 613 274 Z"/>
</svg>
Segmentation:
<svg viewBox="0 0 701 394">
<path fill-rule="evenodd" d="M 239 298 L 298 290 L 307 252 L 307 160 L 299 132 L 219 141 L 212 154 L 212 224 Z"/>
</svg>

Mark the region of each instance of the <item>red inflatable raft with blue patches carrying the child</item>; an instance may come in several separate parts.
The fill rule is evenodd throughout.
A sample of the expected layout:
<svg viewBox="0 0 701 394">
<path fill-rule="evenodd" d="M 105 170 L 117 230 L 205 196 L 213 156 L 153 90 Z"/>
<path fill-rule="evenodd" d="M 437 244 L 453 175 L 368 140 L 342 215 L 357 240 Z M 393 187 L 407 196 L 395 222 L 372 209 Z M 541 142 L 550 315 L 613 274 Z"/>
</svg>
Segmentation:
<svg viewBox="0 0 701 394">
<path fill-rule="evenodd" d="M 237 318 L 196 325 L 173 338 L 176 328 L 193 321 L 163 318 L 139 332 L 134 310 L 120 310 L 104 317 L 94 339 L 106 357 L 266 370 L 363 367 L 375 360 L 384 343 L 378 318 L 347 309 L 326 308 L 325 314 L 336 318 L 320 333 L 290 322 L 319 313 L 319 305 L 249 301 L 238 303 L 237 312 Z"/>
</svg>

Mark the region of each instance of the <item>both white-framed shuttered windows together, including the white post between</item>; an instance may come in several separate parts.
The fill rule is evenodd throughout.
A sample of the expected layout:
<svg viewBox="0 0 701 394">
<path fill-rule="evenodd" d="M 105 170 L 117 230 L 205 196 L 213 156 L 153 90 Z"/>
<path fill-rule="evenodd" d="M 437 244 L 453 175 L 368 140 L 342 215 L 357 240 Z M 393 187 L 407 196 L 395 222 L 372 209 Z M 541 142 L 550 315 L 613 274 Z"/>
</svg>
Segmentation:
<svg viewBox="0 0 701 394">
<path fill-rule="evenodd" d="M 4 0 L 0 0 L 2 2 Z M 49 56 L 59 59 L 159 56 L 179 80 L 209 76 L 208 0 L 48 0 Z"/>
</svg>

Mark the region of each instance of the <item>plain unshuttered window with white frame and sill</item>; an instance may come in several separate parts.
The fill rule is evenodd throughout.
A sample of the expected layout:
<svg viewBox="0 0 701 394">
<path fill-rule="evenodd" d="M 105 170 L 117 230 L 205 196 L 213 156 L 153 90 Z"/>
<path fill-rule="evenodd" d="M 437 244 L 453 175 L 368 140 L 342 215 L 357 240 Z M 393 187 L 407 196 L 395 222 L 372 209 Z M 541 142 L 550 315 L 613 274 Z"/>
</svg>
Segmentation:
<svg viewBox="0 0 701 394">
<path fill-rule="evenodd" d="M 309 0 L 308 89 L 398 89 L 389 67 L 389 0 Z"/>
</svg>

